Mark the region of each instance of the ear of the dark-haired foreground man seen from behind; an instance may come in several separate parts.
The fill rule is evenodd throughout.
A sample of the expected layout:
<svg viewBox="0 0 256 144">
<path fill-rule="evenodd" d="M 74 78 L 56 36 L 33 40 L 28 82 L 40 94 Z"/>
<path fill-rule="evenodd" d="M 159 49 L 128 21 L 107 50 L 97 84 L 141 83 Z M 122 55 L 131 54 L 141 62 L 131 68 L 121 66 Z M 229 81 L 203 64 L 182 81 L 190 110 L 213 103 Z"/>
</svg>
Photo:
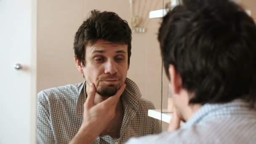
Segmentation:
<svg viewBox="0 0 256 144">
<path fill-rule="evenodd" d="M 171 92 L 173 94 L 179 94 L 182 88 L 182 79 L 172 64 L 169 65 L 169 75 Z"/>
</svg>

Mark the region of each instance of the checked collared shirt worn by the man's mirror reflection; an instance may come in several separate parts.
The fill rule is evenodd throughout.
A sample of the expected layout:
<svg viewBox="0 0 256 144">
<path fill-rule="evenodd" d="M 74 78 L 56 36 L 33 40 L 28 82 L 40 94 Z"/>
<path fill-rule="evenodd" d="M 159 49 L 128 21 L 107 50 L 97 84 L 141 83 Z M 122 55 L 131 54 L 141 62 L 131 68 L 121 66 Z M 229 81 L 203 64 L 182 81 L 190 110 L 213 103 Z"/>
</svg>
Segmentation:
<svg viewBox="0 0 256 144">
<path fill-rule="evenodd" d="M 154 105 L 141 98 L 138 86 L 125 80 L 121 96 L 124 107 L 120 138 L 99 136 L 94 144 L 123 144 L 131 137 L 160 133 L 159 121 L 148 117 L 148 109 Z M 41 91 L 37 95 L 37 142 L 39 144 L 67 144 L 78 132 L 83 122 L 83 104 L 86 94 L 85 82 L 65 85 Z"/>
</svg>

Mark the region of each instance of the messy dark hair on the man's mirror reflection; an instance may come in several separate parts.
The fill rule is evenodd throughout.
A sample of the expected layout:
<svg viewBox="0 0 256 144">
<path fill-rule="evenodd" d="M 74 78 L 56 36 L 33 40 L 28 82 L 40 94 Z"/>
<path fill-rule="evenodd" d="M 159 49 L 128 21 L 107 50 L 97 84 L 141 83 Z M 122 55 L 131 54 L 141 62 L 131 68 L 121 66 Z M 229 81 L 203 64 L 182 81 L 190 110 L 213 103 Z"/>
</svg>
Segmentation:
<svg viewBox="0 0 256 144">
<path fill-rule="evenodd" d="M 93 10 L 75 34 L 73 48 L 75 56 L 83 66 L 85 66 L 85 46 L 89 42 L 94 45 L 100 39 L 128 45 L 128 65 L 130 64 L 132 37 L 127 21 L 114 12 Z"/>
</svg>

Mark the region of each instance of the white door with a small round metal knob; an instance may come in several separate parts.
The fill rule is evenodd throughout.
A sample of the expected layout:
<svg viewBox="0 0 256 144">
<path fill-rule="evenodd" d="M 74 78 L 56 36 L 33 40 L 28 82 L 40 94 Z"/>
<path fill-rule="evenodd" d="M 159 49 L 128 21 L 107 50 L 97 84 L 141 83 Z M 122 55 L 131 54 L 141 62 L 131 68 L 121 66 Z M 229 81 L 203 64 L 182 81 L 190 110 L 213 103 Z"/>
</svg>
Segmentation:
<svg viewBox="0 0 256 144">
<path fill-rule="evenodd" d="M 0 0 L 0 144 L 36 143 L 36 15 L 37 0 Z"/>
</svg>

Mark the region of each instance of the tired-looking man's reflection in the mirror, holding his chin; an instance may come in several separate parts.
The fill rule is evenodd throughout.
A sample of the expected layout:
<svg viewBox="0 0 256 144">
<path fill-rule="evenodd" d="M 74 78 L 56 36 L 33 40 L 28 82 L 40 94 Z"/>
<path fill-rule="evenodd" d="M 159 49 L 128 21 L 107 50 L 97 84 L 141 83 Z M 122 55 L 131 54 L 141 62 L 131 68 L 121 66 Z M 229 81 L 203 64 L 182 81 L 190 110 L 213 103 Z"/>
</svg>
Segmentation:
<svg viewBox="0 0 256 144">
<path fill-rule="evenodd" d="M 38 93 L 39 143 L 113 144 L 160 133 L 159 122 L 147 116 L 153 104 L 126 78 L 131 29 L 125 20 L 113 12 L 91 11 L 76 32 L 74 51 L 86 81 Z"/>
</svg>

